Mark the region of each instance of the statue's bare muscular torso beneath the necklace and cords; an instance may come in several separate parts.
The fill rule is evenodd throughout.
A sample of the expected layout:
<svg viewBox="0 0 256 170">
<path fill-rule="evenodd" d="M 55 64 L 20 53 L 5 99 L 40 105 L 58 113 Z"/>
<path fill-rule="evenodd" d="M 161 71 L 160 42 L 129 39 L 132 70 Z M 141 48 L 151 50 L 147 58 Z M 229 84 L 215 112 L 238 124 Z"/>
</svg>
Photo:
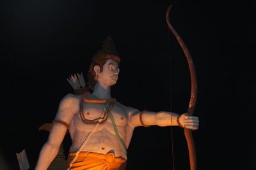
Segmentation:
<svg viewBox="0 0 256 170">
<path fill-rule="evenodd" d="M 109 103 L 107 104 L 109 106 Z M 84 103 L 83 115 L 86 119 L 93 120 L 95 118 L 103 117 L 104 108 L 99 103 Z M 115 102 L 111 113 L 115 119 L 116 127 L 120 137 L 123 139 L 126 147 L 131 141 L 133 127 L 129 125 L 129 115 L 125 106 Z M 79 115 L 79 111 L 74 114 L 72 122 L 70 124 L 70 136 L 72 138 L 72 146 L 70 152 L 76 152 L 82 145 L 84 139 L 92 132 L 96 124 L 84 124 Z M 83 152 L 95 152 L 106 154 L 108 152 L 114 152 L 116 157 L 123 157 L 127 159 L 126 154 L 116 138 L 113 125 L 110 118 L 106 122 L 97 127 L 96 131 L 92 134 L 86 145 L 84 145 Z"/>
</svg>

